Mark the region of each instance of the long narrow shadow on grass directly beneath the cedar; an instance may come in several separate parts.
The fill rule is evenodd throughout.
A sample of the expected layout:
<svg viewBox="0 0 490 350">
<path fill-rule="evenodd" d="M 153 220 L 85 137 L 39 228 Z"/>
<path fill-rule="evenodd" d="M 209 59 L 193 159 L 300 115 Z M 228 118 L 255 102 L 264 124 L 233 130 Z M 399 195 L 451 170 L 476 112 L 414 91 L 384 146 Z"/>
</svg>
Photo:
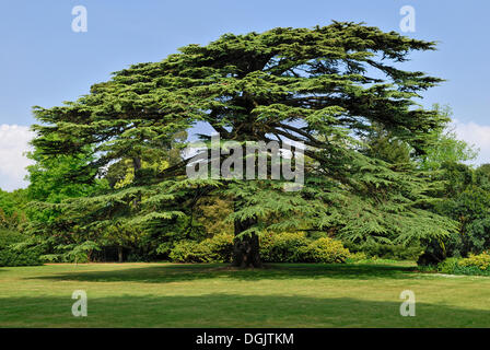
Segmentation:
<svg viewBox="0 0 490 350">
<path fill-rule="evenodd" d="M 92 270 L 30 277 L 55 281 L 171 283 L 200 279 L 229 278 L 234 280 L 285 280 L 285 279 L 408 279 L 415 267 L 384 265 L 322 265 L 322 264 L 271 264 L 264 269 L 236 269 L 224 264 L 150 265 L 116 270 Z"/>
</svg>

